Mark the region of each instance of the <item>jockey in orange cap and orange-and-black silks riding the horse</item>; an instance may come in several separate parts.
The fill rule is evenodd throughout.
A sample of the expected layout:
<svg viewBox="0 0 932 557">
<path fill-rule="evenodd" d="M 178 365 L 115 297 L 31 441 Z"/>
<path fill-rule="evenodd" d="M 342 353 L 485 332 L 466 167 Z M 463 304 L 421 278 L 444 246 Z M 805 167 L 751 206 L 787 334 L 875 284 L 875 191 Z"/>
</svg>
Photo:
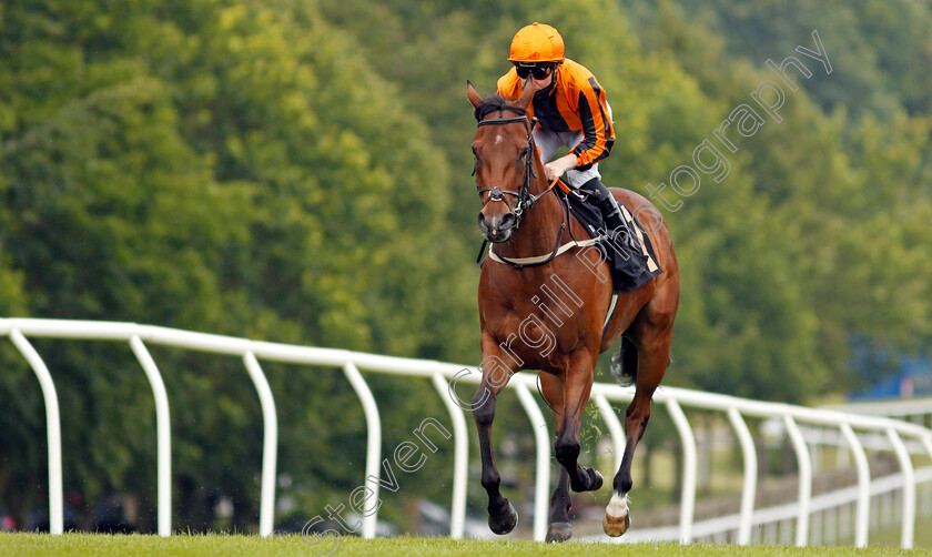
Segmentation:
<svg viewBox="0 0 932 557">
<path fill-rule="evenodd" d="M 598 162 L 615 143 L 611 108 L 596 77 L 564 52 L 563 37 L 553 27 L 534 23 L 521 28 L 511 40 L 508 57 L 515 67 L 498 80 L 498 94 L 517 99 L 525 80 L 531 78 L 534 101 L 528 114 L 537 118 L 533 135 L 547 180 L 553 182 L 566 173 L 564 181 L 570 188 L 596 192 L 606 227 L 626 231 L 618 203 L 602 185 L 598 170 Z M 550 161 L 560 146 L 570 148 L 570 152 Z"/>
</svg>

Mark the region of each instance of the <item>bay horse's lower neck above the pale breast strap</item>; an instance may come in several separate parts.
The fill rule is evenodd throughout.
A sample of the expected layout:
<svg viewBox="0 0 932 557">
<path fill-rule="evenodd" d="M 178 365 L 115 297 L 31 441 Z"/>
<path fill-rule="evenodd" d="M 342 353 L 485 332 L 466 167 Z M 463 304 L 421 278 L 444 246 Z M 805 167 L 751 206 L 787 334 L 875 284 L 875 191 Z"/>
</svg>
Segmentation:
<svg viewBox="0 0 932 557">
<path fill-rule="evenodd" d="M 543 168 L 537 169 L 537 175 L 544 175 Z M 547 182 L 541 178 L 531 191 L 534 195 L 539 195 L 546 188 Z M 496 245 L 495 252 L 507 259 L 549 255 L 556 246 L 563 222 L 564 211 L 559 199 L 554 193 L 546 193 L 525 211 L 511 239 Z"/>
</svg>

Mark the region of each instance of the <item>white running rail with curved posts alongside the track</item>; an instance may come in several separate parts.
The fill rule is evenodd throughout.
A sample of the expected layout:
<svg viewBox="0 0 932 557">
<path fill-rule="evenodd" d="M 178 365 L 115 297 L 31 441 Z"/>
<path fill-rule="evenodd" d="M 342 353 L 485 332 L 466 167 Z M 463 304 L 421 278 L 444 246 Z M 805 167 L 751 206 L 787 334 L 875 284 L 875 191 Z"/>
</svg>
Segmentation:
<svg viewBox="0 0 932 557">
<path fill-rule="evenodd" d="M 61 431 L 58 412 L 58 397 L 49 369 L 41 356 L 36 352 L 27 337 L 80 338 L 95 341 L 122 341 L 129 343 L 130 348 L 140 362 L 152 386 L 155 399 L 155 419 L 158 438 L 158 531 L 161 536 L 170 536 L 171 525 L 171 438 L 169 424 L 169 403 L 165 387 L 155 362 L 149 355 L 145 343 L 174 346 L 214 354 L 233 355 L 243 358 L 246 372 L 255 385 L 262 405 L 264 422 L 264 443 L 262 458 L 262 488 L 260 505 L 260 534 L 270 536 L 273 531 L 273 514 L 275 500 L 275 457 L 277 448 L 277 417 L 275 402 L 269 383 L 260 366 L 260 361 L 286 362 L 313 366 L 342 367 L 353 388 L 359 396 L 368 427 L 366 476 L 379 477 L 381 437 L 378 407 L 375 403 L 365 378 L 361 372 L 385 373 L 392 375 L 417 376 L 432 379 L 444 398 L 454 426 L 455 436 L 455 467 L 453 480 L 453 508 L 450 536 L 463 537 L 465 507 L 468 442 L 465 426 L 464 411 L 457 404 L 450 404 L 456 393 L 457 383 L 477 384 L 479 374 L 468 366 L 448 364 L 435 361 L 381 356 L 336 348 L 320 348 L 295 346 L 269 342 L 250 341 L 230 336 L 212 335 L 180 331 L 152 325 L 134 323 L 60 321 L 34 318 L 0 318 L 0 335 L 9 336 L 14 346 L 22 353 L 36 373 L 42 387 L 45 403 L 48 442 L 49 442 L 49 517 L 52 534 L 63 530 L 62 517 L 62 484 L 61 484 Z M 463 373 L 464 369 L 470 371 Z M 453 379 L 453 381 L 452 381 Z M 535 426 L 535 442 L 537 450 L 537 477 L 535 488 L 534 538 L 543 540 L 547 530 L 548 490 L 550 488 L 550 450 L 551 440 L 543 422 L 540 408 L 530 395 L 536 388 L 536 376 L 530 373 L 516 374 L 508 388 L 516 389 L 521 406 Z M 465 392 L 464 392 L 465 394 Z M 609 405 L 614 402 L 629 402 L 634 396 L 632 388 L 622 388 L 614 384 L 596 383 L 592 386 L 592 398 L 600 409 L 602 419 L 608 423 L 608 431 L 612 435 L 616 458 L 624 447 L 621 422 Z M 791 406 L 781 403 L 750 401 L 728 395 L 688 391 L 676 387 L 661 387 L 654 395 L 655 402 L 667 406 L 679 432 L 683 445 L 683 480 L 681 493 L 680 524 L 667 530 L 652 530 L 652 539 L 679 539 L 688 544 L 697 536 L 709 536 L 717 533 L 738 531 L 738 543 L 750 543 L 753 525 L 776 520 L 796 519 L 796 544 L 806 545 L 808 541 L 809 521 L 812 513 L 827 508 L 824 496 L 812 497 L 812 463 L 806 442 L 798 424 L 835 428 L 847 440 L 858 465 L 858 485 L 845 492 L 844 502 L 854 502 L 855 517 L 859 525 L 855 529 L 855 545 L 868 543 L 865 525 L 869 513 L 868 505 L 872 494 L 902 488 L 902 537 L 904 548 L 912 547 L 913 528 L 915 521 L 915 486 L 919 483 L 932 482 L 932 467 L 913 469 L 912 460 L 905 448 L 904 440 L 923 447 L 932 456 L 932 431 L 916 424 L 890 419 L 879 416 L 864 416 L 828 409 L 814 409 Z M 725 413 L 736 429 L 744 458 L 746 480 L 741 509 L 738 515 L 720 517 L 702 523 L 693 519 L 696 503 L 697 449 L 696 438 L 682 407 L 701 408 Z M 756 510 L 753 508 L 754 476 L 758 463 L 753 449 L 753 438 L 750 436 L 744 419 L 778 418 L 787 428 L 791 444 L 799 463 L 800 486 L 799 500 L 772 509 Z M 859 440 L 859 434 L 882 435 L 889 439 L 887 450 L 891 450 L 898 458 L 902 473 L 894 477 L 872 480 L 864 448 Z M 376 514 L 365 517 L 363 524 L 364 537 L 375 536 Z M 629 533 L 630 538 L 637 530 Z M 608 539 L 607 537 L 605 538 Z"/>
</svg>

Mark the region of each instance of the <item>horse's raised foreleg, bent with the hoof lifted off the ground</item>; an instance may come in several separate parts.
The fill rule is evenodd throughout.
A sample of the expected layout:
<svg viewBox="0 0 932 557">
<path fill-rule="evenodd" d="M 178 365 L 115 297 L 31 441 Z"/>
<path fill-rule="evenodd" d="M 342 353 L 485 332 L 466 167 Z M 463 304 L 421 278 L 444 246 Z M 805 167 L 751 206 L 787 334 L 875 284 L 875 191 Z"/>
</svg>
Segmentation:
<svg viewBox="0 0 932 557">
<path fill-rule="evenodd" d="M 602 485 L 602 477 L 597 470 L 579 466 L 579 424 L 592 391 L 592 369 L 596 356 L 586 350 L 579 350 L 570 356 L 570 364 L 564 378 L 564 418 L 563 427 L 557 433 L 555 452 L 557 462 L 569 475 L 569 486 L 574 492 L 595 492 Z"/>
</svg>

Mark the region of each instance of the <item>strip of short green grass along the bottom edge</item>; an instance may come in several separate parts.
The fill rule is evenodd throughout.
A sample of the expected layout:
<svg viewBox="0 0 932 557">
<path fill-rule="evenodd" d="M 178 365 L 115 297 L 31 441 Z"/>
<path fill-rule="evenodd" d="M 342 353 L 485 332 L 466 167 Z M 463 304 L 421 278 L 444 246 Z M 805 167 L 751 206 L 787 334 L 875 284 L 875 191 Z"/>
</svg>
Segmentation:
<svg viewBox="0 0 932 557">
<path fill-rule="evenodd" d="M 48 534 L 0 534 L 0 555 L 2 556 L 316 556 L 333 548 L 335 538 L 318 538 L 321 544 L 312 546 L 300 536 L 276 536 L 261 538 L 259 536 L 237 535 L 205 535 L 205 536 L 173 536 L 160 538 L 158 536 L 109 536 L 95 534 L 65 534 L 50 536 Z M 327 547 L 324 547 L 327 546 Z M 345 537 L 340 539 L 340 547 L 334 556 L 397 556 L 414 557 L 427 555 L 584 555 L 584 556 L 638 556 L 638 557 L 705 557 L 705 556 L 893 556 L 893 555 L 929 555 L 928 549 L 905 551 L 889 547 L 869 547 L 854 549 L 851 547 L 783 547 L 753 546 L 736 547 L 725 545 L 690 545 L 677 544 L 564 544 L 545 545 L 534 541 L 516 540 L 458 540 L 448 538 L 395 537 L 381 539 L 359 539 Z"/>
</svg>

